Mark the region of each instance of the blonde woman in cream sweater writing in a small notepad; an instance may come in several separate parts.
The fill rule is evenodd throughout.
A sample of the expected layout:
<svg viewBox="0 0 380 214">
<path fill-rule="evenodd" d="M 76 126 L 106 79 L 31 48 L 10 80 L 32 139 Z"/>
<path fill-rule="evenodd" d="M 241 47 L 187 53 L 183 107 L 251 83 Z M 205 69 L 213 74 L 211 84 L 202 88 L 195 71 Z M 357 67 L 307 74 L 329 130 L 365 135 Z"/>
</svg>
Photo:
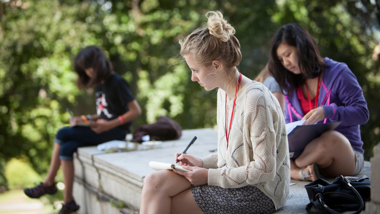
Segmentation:
<svg viewBox="0 0 380 214">
<path fill-rule="evenodd" d="M 176 153 L 174 160 L 192 172 L 148 174 L 141 214 L 270 213 L 287 201 L 290 161 L 279 102 L 237 70 L 240 44 L 222 13 L 206 16 L 206 28 L 180 41 L 180 54 L 192 81 L 207 91 L 219 88 L 218 152 L 204 158 Z"/>
</svg>

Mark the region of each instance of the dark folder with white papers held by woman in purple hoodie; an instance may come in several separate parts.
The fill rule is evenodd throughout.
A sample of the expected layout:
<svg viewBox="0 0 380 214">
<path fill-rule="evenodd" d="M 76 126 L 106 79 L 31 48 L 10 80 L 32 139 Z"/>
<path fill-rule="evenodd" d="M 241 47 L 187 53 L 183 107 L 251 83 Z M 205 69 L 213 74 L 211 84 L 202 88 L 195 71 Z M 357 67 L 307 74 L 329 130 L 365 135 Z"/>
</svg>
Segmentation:
<svg viewBox="0 0 380 214">
<path fill-rule="evenodd" d="M 297 158 L 306 145 L 313 139 L 320 137 L 323 133 L 329 130 L 334 130 L 339 126 L 340 122 L 333 123 L 318 123 L 311 125 L 302 125 L 303 121 L 296 121 L 294 123 L 287 123 L 288 144 L 289 144 L 289 157 Z"/>
</svg>

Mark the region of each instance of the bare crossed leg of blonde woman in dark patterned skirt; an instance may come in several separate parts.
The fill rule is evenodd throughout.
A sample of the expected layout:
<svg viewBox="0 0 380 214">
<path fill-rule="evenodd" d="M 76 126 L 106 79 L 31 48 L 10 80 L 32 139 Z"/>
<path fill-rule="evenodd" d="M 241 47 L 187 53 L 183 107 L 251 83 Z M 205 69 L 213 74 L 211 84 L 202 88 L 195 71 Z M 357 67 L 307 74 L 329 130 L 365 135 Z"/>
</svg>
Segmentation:
<svg viewBox="0 0 380 214">
<path fill-rule="evenodd" d="M 144 185 L 142 187 L 140 214 L 169 214 L 172 204 L 171 197 L 188 190 L 190 186 L 190 182 L 184 176 L 171 170 L 162 170 L 148 174 L 144 178 Z M 199 209 L 195 201 L 193 203 L 192 201 L 181 201 L 181 203 L 186 204 L 186 209 L 192 211 L 189 213 L 194 213 L 194 210 Z M 182 210 L 181 213 L 184 213 L 184 211 Z"/>
</svg>

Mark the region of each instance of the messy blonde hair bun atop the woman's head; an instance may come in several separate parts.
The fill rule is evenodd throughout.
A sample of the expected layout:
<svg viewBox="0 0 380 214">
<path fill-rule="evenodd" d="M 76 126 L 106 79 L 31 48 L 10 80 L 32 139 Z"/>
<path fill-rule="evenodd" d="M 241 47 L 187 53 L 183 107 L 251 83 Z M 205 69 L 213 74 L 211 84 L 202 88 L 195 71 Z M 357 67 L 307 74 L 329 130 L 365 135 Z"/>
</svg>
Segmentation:
<svg viewBox="0 0 380 214">
<path fill-rule="evenodd" d="M 206 13 L 207 28 L 209 33 L 223 42 L 230 39 L 230 35 L 235 34 L 235 29 L 223 19 L 223 14 L 220 11 L 209 11 Z"/>
</svg>

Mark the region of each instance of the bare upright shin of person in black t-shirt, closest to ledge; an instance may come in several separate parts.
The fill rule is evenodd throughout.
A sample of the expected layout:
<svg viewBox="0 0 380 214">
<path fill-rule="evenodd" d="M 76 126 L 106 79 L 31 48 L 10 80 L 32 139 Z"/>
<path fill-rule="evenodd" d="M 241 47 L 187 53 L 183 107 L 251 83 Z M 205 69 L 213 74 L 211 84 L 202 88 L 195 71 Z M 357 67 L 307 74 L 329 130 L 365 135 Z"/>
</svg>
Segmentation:
<svg viewBox="0 0 380 214">
<path fill-rule="evenodd" d="M 70 203 L 73 200 L 73 182 L 74 182 L 74 164 L 73 161 L 61 160 L 63 183 L 65 190 L 63 190 L 63 202 Z"/>
</svg>

